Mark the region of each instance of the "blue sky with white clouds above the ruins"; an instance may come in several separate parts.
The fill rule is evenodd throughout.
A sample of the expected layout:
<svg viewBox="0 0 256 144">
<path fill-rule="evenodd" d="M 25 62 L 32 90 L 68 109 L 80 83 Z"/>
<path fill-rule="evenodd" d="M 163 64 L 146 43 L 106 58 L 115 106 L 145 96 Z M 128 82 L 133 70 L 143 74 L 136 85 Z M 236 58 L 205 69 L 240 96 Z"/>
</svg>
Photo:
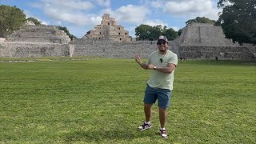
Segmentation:
<svg viewBox="0 0 256 144">
<path fill-rule="evenodd" d="M 1 5 L 17 6 L 27 18 L 37 18 L 45 25 L 66 26 L 82 38 L 101 24 L 102 15 L 110 14 L 135 37 L 141 24 L 162 25 L 179 30 L 196 17 L 218 19 L 218 0 L 0 0 Z"/>
</svg>

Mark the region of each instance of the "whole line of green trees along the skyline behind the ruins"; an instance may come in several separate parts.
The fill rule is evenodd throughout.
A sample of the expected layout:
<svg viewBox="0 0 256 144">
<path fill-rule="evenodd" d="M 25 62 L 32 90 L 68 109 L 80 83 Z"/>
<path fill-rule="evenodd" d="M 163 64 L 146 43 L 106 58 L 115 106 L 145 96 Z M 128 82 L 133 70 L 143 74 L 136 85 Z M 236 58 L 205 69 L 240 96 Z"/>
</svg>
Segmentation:
<svg viewBox="0 0 256 144">
<path fill-rule="evenodd" d="M 226 3 L 230 5 L 226 5 Z M 186 21 L 186 25 L 191 22 L 210 23 L 214 26 L 222 26 L 226 38 L 231 38 L 233 42 L 242 44 L 256 44 L 256 2 L 255 0 L 218 0 L 218 8 L 223 8 L 219 13 L 218 21 L 206 17 L 197 17 Z M 19 30 L 26 21 L 34 22 L 35 25 L 42 25 L 36 18 L 26 18 L 23 10 L 16 6 L 0 6 L 0 37 L 6 38 L 15 30 Z M 56 26 L 59 30 L 64 30 L 71 38 L 76 38 L 70 34 L 66 26 Z M 142 24 L 135 28 L 135 35 L 138 40 L 157 40 L 159 35 L 166 35 L 169 40 L 174 40 L 182 33 L 182 29 L 176 31 L 167 26 L 149 26 Z"/>
</svg>

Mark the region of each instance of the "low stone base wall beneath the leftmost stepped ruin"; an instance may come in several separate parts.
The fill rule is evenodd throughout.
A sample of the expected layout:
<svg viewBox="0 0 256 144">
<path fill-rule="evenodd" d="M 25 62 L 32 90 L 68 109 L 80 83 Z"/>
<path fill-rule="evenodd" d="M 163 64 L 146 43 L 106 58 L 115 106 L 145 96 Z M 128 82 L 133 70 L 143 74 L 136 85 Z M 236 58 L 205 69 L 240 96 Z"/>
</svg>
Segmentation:
<svg viewBox="0 0 256 144">
<path fill-rule="evenodd" d="M 35 42 L 0 42 L 0 57 L 69 57 L 68 44 Z"/>
</svg>

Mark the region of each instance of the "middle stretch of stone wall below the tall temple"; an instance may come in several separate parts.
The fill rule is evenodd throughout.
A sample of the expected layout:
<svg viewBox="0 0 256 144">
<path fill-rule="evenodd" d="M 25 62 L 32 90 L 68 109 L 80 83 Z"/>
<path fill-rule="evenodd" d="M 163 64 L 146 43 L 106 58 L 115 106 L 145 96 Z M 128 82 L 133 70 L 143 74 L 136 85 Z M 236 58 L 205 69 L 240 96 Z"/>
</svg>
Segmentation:
<svg viewBox="0 0 256 144">
<path fill-rule="evenodd" d="M 141 54 L 148 58 L 154 50 L 158 50 L 156 41 L 114 42 L 109 40 L 76 39 L 70 42 L 74 45 L 73 56 L 94 55 L 106 58 L 134 58 Z M 170 50 L 174 50 L 170 47 Z"/>
</svg>

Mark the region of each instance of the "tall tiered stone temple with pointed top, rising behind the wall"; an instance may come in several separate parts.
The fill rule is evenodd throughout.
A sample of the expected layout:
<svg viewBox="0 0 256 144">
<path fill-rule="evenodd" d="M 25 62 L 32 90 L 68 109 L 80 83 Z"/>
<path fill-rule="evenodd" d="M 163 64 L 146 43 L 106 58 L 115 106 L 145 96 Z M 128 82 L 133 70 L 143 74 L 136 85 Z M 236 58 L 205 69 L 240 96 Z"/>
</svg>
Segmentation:
<svg viewBox="0 0 256 144">
<path fill-rule="evenodd" d="M 82 38 L 111 39 L 116 42 L 129 42 L 132 40 L 124 26 L 117 25 L 114 18 L 110 18 L 110 14 L 103 14 L 102 24 L 94 26 L 94 30 L 88 31 Z"/>
</svg>

